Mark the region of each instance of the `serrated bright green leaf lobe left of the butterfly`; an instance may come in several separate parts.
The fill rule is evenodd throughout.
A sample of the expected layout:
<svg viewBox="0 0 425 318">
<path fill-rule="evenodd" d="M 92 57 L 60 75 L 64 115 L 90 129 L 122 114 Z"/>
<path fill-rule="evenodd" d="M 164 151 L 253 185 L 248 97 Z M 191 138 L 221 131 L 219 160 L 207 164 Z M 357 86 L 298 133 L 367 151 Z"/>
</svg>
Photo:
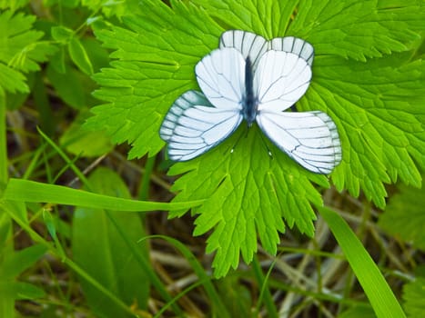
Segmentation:
<svg viewBox="0 0 425 318">
<path fill-rule="evenodd" d="M 142 15 L 125 20 L 131 30 L 113 27 L 96 33 L 106 47 L 116 50 L 111 57 L 119 60 L 94 76 L 103 86 L 96 97 L 110 104 L 93 108 L 96 116 L 86 124 L 106 130 L 115 143 L 131 143 L 130 158 L 157 154 L 162 148 L 162 114 L 178 94 L 194 86 L 193 67 L 217 45 L 221 32 L 193 5 L 176 3 L 174 10 L 155 0 L 142 5 Z"/>
</svg>

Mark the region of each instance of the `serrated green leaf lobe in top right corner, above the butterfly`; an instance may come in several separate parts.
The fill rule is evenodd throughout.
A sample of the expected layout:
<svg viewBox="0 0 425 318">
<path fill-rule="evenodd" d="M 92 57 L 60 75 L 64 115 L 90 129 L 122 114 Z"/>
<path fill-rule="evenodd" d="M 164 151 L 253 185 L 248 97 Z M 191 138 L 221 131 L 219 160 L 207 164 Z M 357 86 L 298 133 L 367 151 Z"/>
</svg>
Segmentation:
<svg viewBox="0 0 425 318">
<path fill-rule="evenodd" d="M 306 0 L 299 2 L 288 35 L 309 40 L 318 54 L 366 61 L 408 50 L 420 39 L 424 15 L 418 2 Z"/>
</svg>

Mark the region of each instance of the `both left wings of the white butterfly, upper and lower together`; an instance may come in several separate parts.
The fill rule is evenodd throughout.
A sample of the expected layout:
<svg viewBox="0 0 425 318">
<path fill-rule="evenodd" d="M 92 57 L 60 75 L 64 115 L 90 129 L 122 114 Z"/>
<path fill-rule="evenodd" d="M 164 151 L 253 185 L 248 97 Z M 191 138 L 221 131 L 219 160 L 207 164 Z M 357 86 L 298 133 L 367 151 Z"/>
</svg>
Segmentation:
<svg viewBox="0 0 425 318">
<path fill-rule="evenodd" d="M 187 91 L 171 106 L 160 129 L 174 161 L 204 154 L 242 121 L 245 61 L 234 48 L 214 50 L 195 67 L 202 93 Z"/>
</svg>

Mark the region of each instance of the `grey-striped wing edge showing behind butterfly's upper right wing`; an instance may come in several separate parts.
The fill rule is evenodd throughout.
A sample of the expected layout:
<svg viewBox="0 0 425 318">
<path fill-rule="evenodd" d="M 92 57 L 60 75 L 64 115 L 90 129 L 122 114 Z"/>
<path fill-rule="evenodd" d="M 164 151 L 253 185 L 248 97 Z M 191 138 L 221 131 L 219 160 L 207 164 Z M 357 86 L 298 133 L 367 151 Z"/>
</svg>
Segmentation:
<svg viewBox="0 0 425 318">
<path fill-rule="evenodd" d="M 275 37 L 270 41 L 269 48 L 275 51 L 284 51 L 299 55 L 308 65 L 313 64 L 314 48 L 309 42 L 301 40 L 298 37 L 286 36 Z"/>
</svg>

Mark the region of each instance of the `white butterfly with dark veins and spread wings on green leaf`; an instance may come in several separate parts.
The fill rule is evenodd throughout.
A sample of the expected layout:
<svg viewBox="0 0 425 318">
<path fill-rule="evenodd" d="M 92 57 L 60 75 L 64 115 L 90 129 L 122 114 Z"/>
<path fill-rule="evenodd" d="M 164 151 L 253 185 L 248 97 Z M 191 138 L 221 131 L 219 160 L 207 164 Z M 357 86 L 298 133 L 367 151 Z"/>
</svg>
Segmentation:
<svg viewBox="0 0 425 318">
<path fill-rule="evenodd" d="M 314 50 L 292 36 L 267 41 L 230 30 L 219 48 L 195 68 L 202 93 L 177 98 L 161 125 L 160 136 L 174 161 L 204 154 L 232 134 L 245 119 L 303 167 L 329 174 L 341 161 L 337 127 L 328 114 L 284 112 L 306 92 Z"/>
</svg>

